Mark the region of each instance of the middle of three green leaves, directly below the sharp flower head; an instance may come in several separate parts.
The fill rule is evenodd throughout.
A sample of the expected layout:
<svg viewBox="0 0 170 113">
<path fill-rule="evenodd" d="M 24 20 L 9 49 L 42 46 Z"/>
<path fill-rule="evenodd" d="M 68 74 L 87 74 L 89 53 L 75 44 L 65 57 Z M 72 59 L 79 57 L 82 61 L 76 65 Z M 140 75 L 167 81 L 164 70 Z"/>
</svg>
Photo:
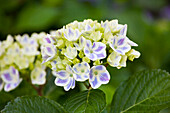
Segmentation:
<svg viewBox="0 0 170 113">
<path fill-rule="evenodd" d="M 101 90 L 87 90 L 68 98 L 64 104 L 69 113 L 100 113 L 106 106 L 106 97 Z"/>
</svg>

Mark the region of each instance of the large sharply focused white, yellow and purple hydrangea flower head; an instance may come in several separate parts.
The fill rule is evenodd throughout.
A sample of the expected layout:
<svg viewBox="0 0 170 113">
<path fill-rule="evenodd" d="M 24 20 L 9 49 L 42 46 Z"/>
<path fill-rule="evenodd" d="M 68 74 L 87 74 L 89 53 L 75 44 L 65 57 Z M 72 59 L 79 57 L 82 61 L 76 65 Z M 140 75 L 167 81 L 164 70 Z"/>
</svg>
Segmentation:
<svg viewBox="0 0 170 113">
<path fill-rule="evenodd" d="M 55 84 L 66 91 L 75 87 L 75 81 L 86 80 L 96 89 L 110 80 L 105 64 L 120 69 L 126 67 L 127 59 L 140 56 L 131 49 L 138 45 L 126 33 L 127 25 L 117 20 L 74 21 L 43 38 L 43 63 L 53 70 Z"/>
</svg>

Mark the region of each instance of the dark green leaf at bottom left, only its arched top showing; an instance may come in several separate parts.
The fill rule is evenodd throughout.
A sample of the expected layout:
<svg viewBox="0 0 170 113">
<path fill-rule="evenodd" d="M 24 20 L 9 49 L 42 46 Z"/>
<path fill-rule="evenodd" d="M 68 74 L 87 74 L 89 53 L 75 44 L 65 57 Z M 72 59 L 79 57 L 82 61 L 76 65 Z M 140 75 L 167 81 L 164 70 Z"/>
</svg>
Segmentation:
<svg viewBox="0 0 170 113">
<path fill-rule="evenodd" d="M 9 102 L 3 113 L 66 113 L 57 102 L 39 96 L 18 97 Z"/>
</svg>

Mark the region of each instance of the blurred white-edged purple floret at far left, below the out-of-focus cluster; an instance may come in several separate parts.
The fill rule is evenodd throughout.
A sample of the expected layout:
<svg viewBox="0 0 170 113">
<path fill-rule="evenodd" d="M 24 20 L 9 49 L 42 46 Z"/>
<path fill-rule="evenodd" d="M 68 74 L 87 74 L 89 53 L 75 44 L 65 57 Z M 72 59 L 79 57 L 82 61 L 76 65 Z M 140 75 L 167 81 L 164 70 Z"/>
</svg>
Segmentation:
<svg viewBox="0 0 170 113">
<path fill-rule="evenodd" d="M 6 92 L 15 89 L 22 81 L 22 79 L 19 78 L 18 70 L 12 66 L 2 73 L 1 78 L 5 83 L 4 90 Z"/>
</svg>

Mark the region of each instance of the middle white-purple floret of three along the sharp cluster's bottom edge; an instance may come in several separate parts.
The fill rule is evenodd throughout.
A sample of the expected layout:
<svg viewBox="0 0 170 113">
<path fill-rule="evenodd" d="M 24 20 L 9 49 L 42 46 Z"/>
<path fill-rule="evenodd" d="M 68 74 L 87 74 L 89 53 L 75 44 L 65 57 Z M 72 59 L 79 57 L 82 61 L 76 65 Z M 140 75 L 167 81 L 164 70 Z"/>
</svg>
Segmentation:
<svg viewBox="0 0 170 113">
<path fill-rule="evenodd" d="M 87 62 L 77 63 L 73 66 L 76 81 L 86 81 L 89 78 L 90 66 Z"/>
</svg>

